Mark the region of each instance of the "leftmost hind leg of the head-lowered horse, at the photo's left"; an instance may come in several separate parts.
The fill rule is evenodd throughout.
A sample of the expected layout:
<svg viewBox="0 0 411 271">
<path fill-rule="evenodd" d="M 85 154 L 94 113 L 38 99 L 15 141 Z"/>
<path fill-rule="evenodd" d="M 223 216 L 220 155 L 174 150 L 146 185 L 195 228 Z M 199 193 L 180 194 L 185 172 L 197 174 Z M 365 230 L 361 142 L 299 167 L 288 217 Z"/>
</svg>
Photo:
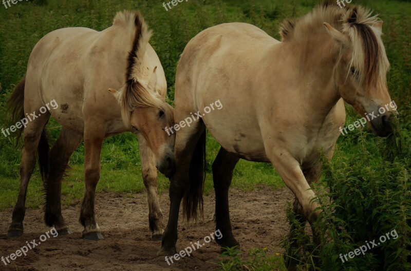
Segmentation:
<svg viewBox="0 0 411 271">
<path fill-rule="evenodd" d="M 13 209 L 12 222 L 8 228 L 7 236 L 13 238 L 23 234 L 23 220 L 26 213 L 26 195 L 27 186 L 31 175 L 33 174 L 36 163 L 36 151 L 39 151 L 39 163 L 41 169 L 47 163 L 46 155 L 48 153 L 48 138 L 44 127 L 50 117 L 50 114 L 42 114 L 40 117 L 27 123 L 24 129 L 24 147 L 22 160 L 20 163 L 20 191 L 16 205 Z M 45 174 L 47 174 L 45 172 Z"/>
</svg>

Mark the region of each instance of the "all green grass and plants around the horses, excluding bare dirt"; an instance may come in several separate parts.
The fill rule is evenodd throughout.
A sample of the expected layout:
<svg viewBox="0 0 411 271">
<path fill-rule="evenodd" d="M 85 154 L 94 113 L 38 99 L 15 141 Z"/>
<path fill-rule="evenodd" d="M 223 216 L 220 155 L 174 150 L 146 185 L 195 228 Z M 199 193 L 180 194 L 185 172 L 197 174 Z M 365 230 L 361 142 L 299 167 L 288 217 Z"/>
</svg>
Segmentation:
<svg viewBox="0 0 411 271">
<path fill-rule="evenodd" d="M 198 32 L 227 22 L 247 22 L 279 39 L 278 26 L 285 18 L 301 16 L 319 1 L 314 0 L 201 0 L 182 3 L 165 11 L 158 1 L 122 0 L 34 0 L 18 2 L 8 8 L 0 6 L 0 128 L 9 127 L 5 103 L 14 86 L 23 77 L 28 57 L 37 41 L 48 32 L 64 27 L 89 27 L 103 30 L 111 25 L 117 11 L 139 9 L 154 30 L 151 44 L 160 57 L 169 85 L 169 101 L 174 100 L 174 76 L 179 55 L 186 43 Z M 289 256 L 300 261 L 306 270 L 400 270 L 410 262 L 410 137 L 411 137 L 411 3 L 405 1 L 353 0 L 370 7 L 384 20 L 384 45 L 391 63 L 388 87 L 399 107 L 397 137 L 376 138 L 358 129 L 340 137 L 334 158 L 327 163 L 319 200 L 324 203 L 322 251 L 303 232 L 294 240 L 298 249 Z M 347 124 L 359 116 L 347 106 Z M 60 132 L 51 120 L 49 131 L 55 140 Z M 401 135 L 401 136 L 400 136 Z M 18 193 L 20 149 L 13 149 L 15 138 L 0 134 L 0 210 L 12 207 Z M 207 142 L 206 193 L 212 190 L 211 164 L 218 143 L 209 136 Z M 102 151 L 102 175 L 98 192 L 134 194 L 143 191 L 138 144 L 133 134 L 108 138 Z M 73 154 L 70 176 L 63 181 L 64 204 L 83 196 L 84 148 Z M 269 164 L 240 161 L 234 172 L 233 185 L 252 190 L 255 185 L 284 184 Z M 159 176 L 159 192 L 167 191 L 169 181 Z M 29 184 L 27 206 L 40 207 L 42 182 L 36 170 Z M 326 192 L 328 191 L 328 192 Z M 331 202 L 324 200 L 331 197 Z M 294 216 L 288 212 L 291 223 Z M 339 259 L 365 241 L 396 229 L 399 238 L 376 247 L 365 256 L 346 263 Z M 307 242 L 308 241 L 308 242 Z M 286 248 L 289 247 L 284 241 Z M 407 258 L 408 257 L 408 258 Z M 229 250 L 222 260 L 223 270 L 283 270 L 282 257 L 269 255 L 264 249 L 250 251 L 247 259 Z M 231 266 L 231 267 L 230 267 Z"/>
</svg>

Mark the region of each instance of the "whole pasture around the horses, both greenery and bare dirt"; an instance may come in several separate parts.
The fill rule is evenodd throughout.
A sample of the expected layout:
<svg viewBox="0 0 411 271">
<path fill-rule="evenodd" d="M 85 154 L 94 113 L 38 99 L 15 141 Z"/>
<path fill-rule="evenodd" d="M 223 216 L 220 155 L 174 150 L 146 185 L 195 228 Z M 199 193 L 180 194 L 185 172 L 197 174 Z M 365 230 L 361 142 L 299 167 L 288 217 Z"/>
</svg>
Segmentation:
<svg viewBox="0 0 411 271">
<path fill-rule="evenodd" d="M 12 124 L 6 101 L 26 72 L 30 52 L 45 34 L 64 27 L 103 30 L 111 26 L 118 11 L 140 10 L 154 34 L 150 44 L 158 54 L 167 80 L 167 102 L 173 105 L 179 56 L 189 40 L 203 29 L 228 22 L 253 24 L 281 39 L 278 28 L 284 19 L 302 16 L 320 1 L 315 0 L 189 0 L 166 10 L 160 1 L 34 0 L 0 6 L 0 129 Z M 156 257 L 160 242 L 150 240 L 146 193 L 142 182 L 137 139 L 124 133 L 104 140 L 101 179 L 96 193 L 96 217 L 104 240 L 81 239 L 78 222 L 84 195 L 84 145 L 70 159 L 71 170 L 63 180 L 63 215 L 71 231 L 51 238 L 18 257 L 6 270 L 285 270 L 284 254 L 295 259 L 301 270 L 406 270 L 411 268 L 411 3 L 407 1 L 353 0 L 369 7 L 384 21 L 382 37 L 391 69 L 388 90 L 396 102 L 400 120 L 394 135 L 378 138 L 358 128 L 340 136 L 333 159 L 326 163 L 316 186 L 325 219 L 319 222 L 322 249 L 298 229 L 291 249 L 285 240 L 289 223 L 295 222 L 287 202 L 293 195 L 270 164 L 240 160 L 230 190 L 233 233 L 242 254 L 234 249 L 220 256 L 213 241 L 192 257 L 168 265 Z M 96 67 L 96 69 L 98 69 Z M 62 71 L 64 72 L 64 70 Z M 218 99 L 218 97 L 216 97 Z M 346 104 L 346 126 L 362 116 Z M 51 119 L 48 130 L 57 139 L 61 127 Z M 12 207 L 20 186 L 20 147 L 15 135 L 0 133 L 0 257 L 9 256 L 26 241 L 38 239 L 50 229 L 43 222 L 43 183 L 36 168 L 27 194 L 25 233 L 8 239 Z M 219 149 L 207 139 L 207 179 L 204 219 L 190 224 L 179 221 L 177 250 L 201 240 L 214 229 L 212 162 Z M 159 174 L 160 206 L 167 221 L 169 180 Z M 327 197 L 331 198 L 329 202 Z M 180 216 L 181 217 L 181 216 Z M 308 228 L 308 227 L 307 227 Z M 365 241 L 396 230 L 398 238 L 387 240 L 364 255 L 342 261 Z M 307 232 L 307 231 L 306 231 Z"/>
</svg>

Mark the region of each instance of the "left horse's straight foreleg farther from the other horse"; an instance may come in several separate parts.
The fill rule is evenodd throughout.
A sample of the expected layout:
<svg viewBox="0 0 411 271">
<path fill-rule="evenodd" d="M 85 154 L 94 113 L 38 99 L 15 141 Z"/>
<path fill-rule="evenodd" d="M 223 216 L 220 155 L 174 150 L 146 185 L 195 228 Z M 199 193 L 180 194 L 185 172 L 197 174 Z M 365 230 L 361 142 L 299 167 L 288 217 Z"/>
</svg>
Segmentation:
<svg viewBox="0 0 411 271">
<path fill-rule="evenodd" d="M 86 190 L 81 205 L 80 223 L 84 226 L 83 238 L 88 240 L 103 239 L 100 227 L 95 218 L 96 186 L 100 179 L 100 154 L 104 140 L 105 127 L 96 129 L 95 126 L 84 131 L 84 179 Z"/>
</svg>

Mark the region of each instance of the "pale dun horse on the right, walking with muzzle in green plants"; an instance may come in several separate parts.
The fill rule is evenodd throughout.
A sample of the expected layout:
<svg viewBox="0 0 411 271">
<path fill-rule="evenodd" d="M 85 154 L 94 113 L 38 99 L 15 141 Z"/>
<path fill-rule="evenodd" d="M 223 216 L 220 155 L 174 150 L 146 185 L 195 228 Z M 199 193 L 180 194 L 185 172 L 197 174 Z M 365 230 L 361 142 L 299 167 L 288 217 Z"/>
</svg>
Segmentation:
<svg viewBox="0 0 411 271">
<path fill-rule="evenodd" d="M 176 136 L 176 173 L 170 185 L 170 217 L 158 255 L 176 253 L 178 211 L 202 214 L 206 128 L 221 145 L 212 165 L 216 229 L 222 247 L 232 234 L 228 190 L 240 158 L 270 162 L 295 195 L 294 211 L 310 223 L 320 214 L 310 183 L 319 178 L 320 152 L 328 158 L 344 127 L 344 101 L 363 115 L 391 101 L 389 62 L 382 22 L 360 6 L 320 5 L 286 21 L 282 41 L 242 23 L 208 28 L 185 47 L 178 63 L 176 123 L 219 99 L 223 108 L 202 114 Z M 387 136 L 396 111 L 371 120 Z"/>
</svg>

